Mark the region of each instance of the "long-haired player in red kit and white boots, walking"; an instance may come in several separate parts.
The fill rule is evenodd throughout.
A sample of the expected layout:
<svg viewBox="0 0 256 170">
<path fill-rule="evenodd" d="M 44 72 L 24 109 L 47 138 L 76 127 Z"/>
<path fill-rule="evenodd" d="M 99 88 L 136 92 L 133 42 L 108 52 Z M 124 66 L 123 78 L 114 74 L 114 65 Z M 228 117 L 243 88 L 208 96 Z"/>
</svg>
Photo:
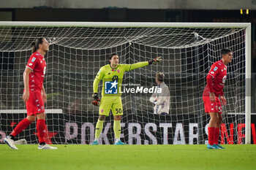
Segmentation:
<svg viewBox="0 0 256 170">
<path fill-rule="evenodd" d="M 45 38 L 38 38 L 32 43 L 32 55 L 23 73 L 23 100 L 26 102 L 27 117 L 18 123 L 10 136 L 4 138 L 12 149 L 18 150 L 14 138 L 37 118 L 38 149 L 57 149 L 45 143 L 45 106 L 46 94 L 42 82 L 45 79 L 46 63 L 44 55 L 49 50 L 49 43 Z"/>
</svg>

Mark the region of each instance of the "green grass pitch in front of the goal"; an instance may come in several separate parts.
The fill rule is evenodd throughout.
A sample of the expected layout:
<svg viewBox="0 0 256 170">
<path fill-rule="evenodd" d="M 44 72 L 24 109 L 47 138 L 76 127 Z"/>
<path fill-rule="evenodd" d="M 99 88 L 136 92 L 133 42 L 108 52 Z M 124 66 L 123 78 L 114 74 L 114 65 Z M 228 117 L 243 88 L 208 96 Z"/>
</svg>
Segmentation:
<svg viewBox="0 0 256 170">
<path fill-rule="evenodd" d="M 11 150 L 0 144 L 0 166 L 8 169 L 256 169 L 256 145 L 82 145 L 56 144 L 58 150 L 38 150 L 36 144 Z"/>
</svg>

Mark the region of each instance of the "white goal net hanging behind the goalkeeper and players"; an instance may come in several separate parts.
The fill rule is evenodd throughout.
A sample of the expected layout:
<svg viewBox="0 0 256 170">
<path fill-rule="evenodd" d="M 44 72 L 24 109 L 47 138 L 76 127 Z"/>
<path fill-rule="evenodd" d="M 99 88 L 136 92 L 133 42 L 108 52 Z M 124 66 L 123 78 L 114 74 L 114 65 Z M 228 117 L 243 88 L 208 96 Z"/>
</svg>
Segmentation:
<svg viewBox="0 0 256 170">
<path fill-rule="evenodd" d="M 9 23 L 8 23 L 9 24 Z M 48 101 L 45 139 L 55 144 L 89 144 L 94 140 L 99 107 L 91 104 L 93 81 L 109 55 L 118 53 L 120 63 L 162 63 L 124 74 L 125 88 L 157 86 L 155 75 L 165 74 L 170 91 L 167 115 L 154 114 L 152 93 L 123 93 L 121 140 L 127 144 L 205 144 L 209 115 L 204 112 L 206 75 L 230 48 L 222 107 L 222 144 L 245 143 L 246 25 L 189 23 L 3 23 L 0 26 L 0 141 L 26 117 L 22 100 L 23 71 L 31 55 L 31 42 L 45 37 L 45 90 Z M 59 24 L 59 25 L 58 25 Z M 126 86 L 125 86 L 126 85 Z M 102 82 L 99 83 L 101 96 Z M 61 109 L 61 112 L 56 110 Z M 52 112 L 51 112 L 52 111 Z M 18 138 L 37 143 L 36 124 Z M 99 143 L 113 144 L 113 115 L 104 123 Z"/>
</svg>

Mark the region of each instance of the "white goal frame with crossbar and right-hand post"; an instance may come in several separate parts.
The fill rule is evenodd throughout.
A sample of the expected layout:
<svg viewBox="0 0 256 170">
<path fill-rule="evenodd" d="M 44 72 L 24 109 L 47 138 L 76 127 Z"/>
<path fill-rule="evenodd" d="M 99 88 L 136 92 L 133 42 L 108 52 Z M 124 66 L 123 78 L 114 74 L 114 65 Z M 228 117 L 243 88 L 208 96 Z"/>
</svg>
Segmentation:
<svg viewBox="0 0 256 170">
<path fill-rule="evenodd" d="M 244 37 L 245 39 L 244 52 L 246 57 L 245 58 L 245 144 L 251 143 L 251 23 L 0 22 L 0 27 L 210 28 L 210 29 L 211 28 L 231 28 L 231 29 L 244 28 L 246 31 L 245 37 Z M 183 34 L 183 32 L 181 32 L 181 34 Z M 0 40 L 1 39 L 5 39 L 5 38 L 0 37 Z M 126 37 L 124 37 L 124 39 L 126 39 Z M 214 41 L 214 38 L 213 39 L 202 38 L 202 39 L 203 39 L 202 43 Z M 55 40 L 54 39 L 51 39 L 51 40 L 54 43 Z M 129 39 L 127 39 L 127 42 L 129 42 Z M 184 45 L 184 47 L 186 47 L 186 45 Z M 173 47 L 173 48 L 175 49 L 176 47 Z M 163 49 L 165 49 L 165 47 L 163 47 Z M 2 50 L 1 52 L 4 53 L 5 51 L 7 50 Z M 55 108 L 56 107 L 54 107 L 54 109 Z M 14 109 L 17 109 L 17 108 L 14 108 Z M 48 109 L 53 109 L 53 108 L 48 108 Z M 62 109 L 62 108 L 57 107 L 57 109 Z"/>
</svg>

